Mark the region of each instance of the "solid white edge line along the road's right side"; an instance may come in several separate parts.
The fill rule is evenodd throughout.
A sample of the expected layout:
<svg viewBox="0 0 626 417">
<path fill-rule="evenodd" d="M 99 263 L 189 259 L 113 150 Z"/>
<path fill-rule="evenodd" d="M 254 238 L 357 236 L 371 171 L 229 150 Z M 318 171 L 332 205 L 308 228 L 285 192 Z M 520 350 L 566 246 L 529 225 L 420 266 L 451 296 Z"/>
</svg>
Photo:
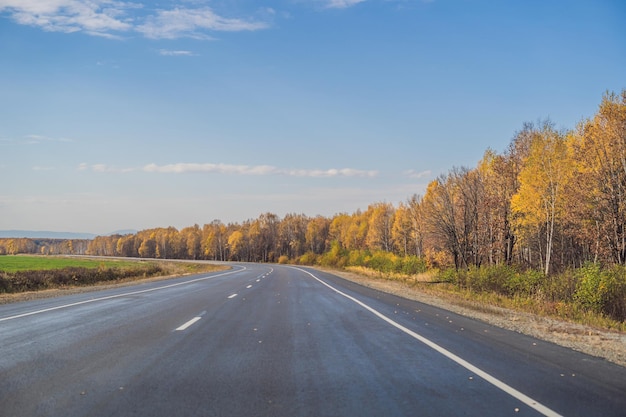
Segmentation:
<svg viewBox="0 0 626 417">
<path fill-rule="evenodd" d="M 518 399 L 519 401 L 521 401 L 524 404 L 526 404 L 527 406 L 535 409 L 536 411 L 538 411 L 539 413 L 543 414 L 544 416 L 547 416 L 547 417 L 563 417 L 561 414 L 557 413 L 556 411 L 546 407 L 545 405 L 541 404 L 540 402 L 538 402 L 536 400 L 533 400 L 532 398 L 530 398 L 526 394 L 516 390 L 515 388 L 513 388 L 510 385 L 506 384 L 505 382 L 500 381 L 498 378 L 488 374 L 487 372 L 483 371 L 482 369 L 472 365 L 471 363 L 467 362 L 465 359 L 463 359 L 463 358 L 455 355 L 454 353 L 450 352 L 449 350 L 439 346 L 438 344 L 436 344 L 435 342 L 431 341 L 430 339 L 427 339 L 424 336 L 421 336 L 421 335 L 415 333 L 414 331 L 404 327 L 400 323 L 397 323 L 397 322 L 391 320 L 389 317 L 385 316 L 384 314 L 382 314 L 378 310 L 373 309 L 372 307 L 368 306 L 367 304 L 363 303 L 362 301 L 359 301 L 356 298 L 354 298 L 354 297 L 352 297 L 352 296 L 350 296 L 350 295 L 348 295 L 348 294 L 346 294 L 344 292 L 339 291 L 338 289 L 336 289 L 332 285 L 327 284 L 326 282 L 322 281 L 321 279 L 319 279 L 318 277 L 316 277 L 315 275 L 313 275 L 309 271 L 306 271 L 306 270 L 300 269 L 300 268 L 296 268 L 296 267 L 291 267 L 291 268 L 297 269 L 298 271 L 302 271 L 302 272 L 312 276 L 315 280 L 317 280 L 320 283 L 324 284 L 325 286 L 327 286 L 331 290 L 335 291 L 337 294 L 339 294 L 339 295 L 341 295 L 343 297 L 346 297 L 350 301 L 355 302 L 356 304 L 360 305 L 361 307 L 363 307 L 364 309 L 366 309 L 370 313 L 374 314 L 378 318 L 386 321 L 387 323 L 391 324 L 395 328 L 402 330 L 404 333 L 408 334 L 409 336 L 413 337 L 414 339 L 419 340 L 420 342 L 424 343 L 426 346 L 430 347 L 431 349 L 434 349 L 435 351 L 439 352 L 440 354 L 442 354 L 443 356 L 447 357 L 448 359 L 453 360 L 454 362 L 456 362 L 457 364 L 461 365 L 462 367 L 464 367 L 468 371 L 478 375 L 479 377 L 481 377 L 485 381 L 489 382 L 491 385 L 493 385 L 496 388 L 499 388 L 500 390 L 506 392 L 507 394 L 509 394 L 513 398 Z"/>
</svg>

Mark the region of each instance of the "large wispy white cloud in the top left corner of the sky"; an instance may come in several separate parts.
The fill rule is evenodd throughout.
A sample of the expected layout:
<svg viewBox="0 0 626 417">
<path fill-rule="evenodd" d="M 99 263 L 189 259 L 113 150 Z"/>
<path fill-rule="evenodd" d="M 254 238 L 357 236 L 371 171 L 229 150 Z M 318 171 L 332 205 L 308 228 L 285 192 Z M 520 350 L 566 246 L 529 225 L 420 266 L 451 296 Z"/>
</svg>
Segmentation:
<svg viewBox="0 0 626 417">
<path fill-rule="evenodd" d="M 208 7 L 188 8 L 185 3 L 151 13 L 146 12 L 150 2 L 128 0 L 0 0 L 0 15 L 50 32 L 84 32 L 106 38 L 139 33 L 151 39 L 211 39 L 211 32 L 269 26 L 261 21 L 223 17 Z"/>
</svg>

